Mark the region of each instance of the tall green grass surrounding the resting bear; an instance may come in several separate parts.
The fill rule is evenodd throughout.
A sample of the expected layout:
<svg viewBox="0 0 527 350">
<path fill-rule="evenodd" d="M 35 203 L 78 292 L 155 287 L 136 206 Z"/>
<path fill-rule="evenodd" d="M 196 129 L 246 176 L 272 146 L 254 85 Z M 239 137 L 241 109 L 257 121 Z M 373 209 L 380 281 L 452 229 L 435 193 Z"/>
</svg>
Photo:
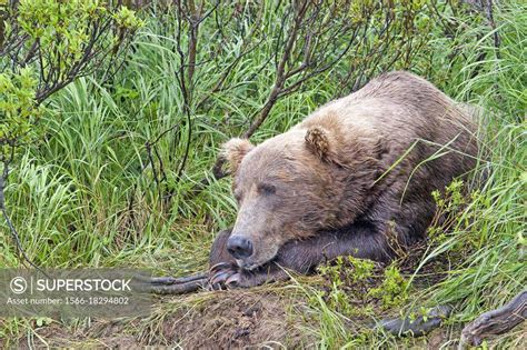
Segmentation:
<svg viewBox="0 0 527 350">
<path fill-rule="evenodd" d="M 457 261 L 439 284 L 410 287 L 415 298 L 402 308 L 455 304 L 448 321 L 450 340 L 459 336 L 460 324 L 501 306 L 527 284 L 527 7 L 511 1 L 495 17 L 501 39 L 499 53 L 485 20 L 457 13 L 454 37 L 447 38 L 440 28 L 431 31 L 427 47 L 408 67 L 458 101 L 485 110 L 479 136 L 485 147 L 475 178 L 486 172 L 488 180 L 457 212 L 448 234 L 428 251 L 430 258 L 464 250 L 464 260 Z M 270 7 L 264 18 L 265 30 L 272 30 L 279 19 Z M 243 57 L 228 77 L 233 88 L 215 93 L 206 108 L 192 111 L 189 159 L 178 179 L 188 124 L 181 91 L 171 73 L 179 69 L 173 26 L 149 18 L 127 66 L 111 84 L 100 86 L 95 74 L 77 80 L 50 100 L 43 121 L 46 140 L 27 148 L 6 190 L 8 210 L 22 244 L 39 266 L 136 267 L 185 274 L 205 269 L 215 233 L 232 224 L 236 206 L 228 179 L 212 181 L 190 200 L 185 196 L 203 177 L 211 177 L 208 171 L 219 144 L 239 134 L 249 116 L 265 103 L 274 79 L 272 64 L 266 64 L 274 42 L 268 40 Z M 199 59 L 203 63 L 197 70 L 197 101 L 211 89 L 241 44 L 241 38 L 235 38 L 221 48 L 221 59 L 207 60 L 209 52 L 218 50 L 213 40 L 207 40 L 212 34 L 213 30 L 205 27 L 200 38 L 203 47 Z M 481 60 L 483 52 L 486 56 Z M 344 67 L 336 66 L 308 81 L 299 92 L 280 99 L 252 139 L 258 142 L 280 133 L 341 94 L 335 80 Z M 156 144 L 167 174 L 167 181 L 158 187 L 145 144 L 178 123 L 180 127 Z M 156 164 L 159 167 L 158 161 Z M 169 204 L 163 200 L 168 192 L 172 193 Z M 0 227 L 0 266 L 19 266 L 7 227 L 3 222 Z M 317 283 L 301 280 L 292 284 L 304 296 L 298 298 L 311 299 L 305 311 L 315 327 L 305 331 L 322 348 L 425 343 L 365 332 L 359 324 L 351 327 L 354 320 L 317 297 Z M 31 320 L 3 320 L 0 339 L 34 337 L 33 328 Z M 508 348 L 521 343 L 525 336 L 516 330 L 491 344 Z"/>
</svg>

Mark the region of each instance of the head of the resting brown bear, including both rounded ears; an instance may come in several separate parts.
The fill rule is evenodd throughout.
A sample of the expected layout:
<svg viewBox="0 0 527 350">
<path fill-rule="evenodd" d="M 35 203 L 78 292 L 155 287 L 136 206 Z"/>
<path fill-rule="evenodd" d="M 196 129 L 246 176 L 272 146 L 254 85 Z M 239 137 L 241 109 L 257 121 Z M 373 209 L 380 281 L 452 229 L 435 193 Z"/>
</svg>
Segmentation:
<svg viewBox="0 0 527 350">
<path fill-rule="evenodd" d="M 292 129 L 259 146 L 231 139 L 222 157 L 238 202 L 227 249 L 248 270 L 272 260 L 290 240 L 352 221 L 375 180 L 365 180 L 371 169 L 350 171 L 354 164 L 369 167 L 371 157 L 342 149 L 339 133 L 320 126 Z M 354 181 L 359 173 L 361 180 Z"/>
</svg>

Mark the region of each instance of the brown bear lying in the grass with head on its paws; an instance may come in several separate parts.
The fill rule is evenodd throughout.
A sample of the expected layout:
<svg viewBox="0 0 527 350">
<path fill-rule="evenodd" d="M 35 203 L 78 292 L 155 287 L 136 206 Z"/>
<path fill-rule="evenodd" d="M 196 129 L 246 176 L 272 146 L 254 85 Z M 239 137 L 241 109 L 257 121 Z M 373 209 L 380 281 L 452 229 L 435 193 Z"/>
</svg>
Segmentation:
<svg viewBox="0 0 527 350">
<path fill-rule="evenodd" d="M 212 246 L 210 283 L 256 286 L 338 256 L 390 260 L 425 237 L 431 192 L 474 169 L 475 131 L 445 93 L 396 71 L 258 146 L 228 141 L 238 216 Z"/>
</svg>

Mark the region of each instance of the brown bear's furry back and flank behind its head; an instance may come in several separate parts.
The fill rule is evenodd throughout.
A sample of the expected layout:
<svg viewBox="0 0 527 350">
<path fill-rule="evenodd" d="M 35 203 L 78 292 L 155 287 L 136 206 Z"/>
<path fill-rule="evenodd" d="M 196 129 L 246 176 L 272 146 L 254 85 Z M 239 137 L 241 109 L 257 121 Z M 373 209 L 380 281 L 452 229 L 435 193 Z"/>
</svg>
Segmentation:
<svg viewBox="0 0 527 350">
<path fill-rule="evenodd" d="M 382 182 L 397 198 L 395 202 L 422 196 L 431 201 L 432 190 L 444 189 L 474 169 L 478 153 L 468 109 L 408 72 L 371 80 L 359 91 L 321 107 L 294 130 L 317 126 L 337 136 L 339 154 L 349 163 L 360 149 L 378 159 L 382 171 L 391 169 Z"/>
</svg>

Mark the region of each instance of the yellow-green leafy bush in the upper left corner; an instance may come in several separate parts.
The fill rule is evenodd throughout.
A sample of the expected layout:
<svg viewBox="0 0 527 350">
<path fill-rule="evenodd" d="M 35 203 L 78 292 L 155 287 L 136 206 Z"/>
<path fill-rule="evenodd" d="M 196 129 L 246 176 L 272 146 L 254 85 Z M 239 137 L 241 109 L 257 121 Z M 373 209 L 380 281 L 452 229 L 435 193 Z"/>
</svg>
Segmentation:
<svg viewBox="0 0 527 350">
<path fill-rule="evenodd" d="M 20 0 L 0 4 L 0 159 L 41 133 L 41 103 L 74 79 L 119 67 L 143 26 L 126 7 L 101 0 Z M 122 57 L 120 57 L 122 56 Z"/>
</svg>

